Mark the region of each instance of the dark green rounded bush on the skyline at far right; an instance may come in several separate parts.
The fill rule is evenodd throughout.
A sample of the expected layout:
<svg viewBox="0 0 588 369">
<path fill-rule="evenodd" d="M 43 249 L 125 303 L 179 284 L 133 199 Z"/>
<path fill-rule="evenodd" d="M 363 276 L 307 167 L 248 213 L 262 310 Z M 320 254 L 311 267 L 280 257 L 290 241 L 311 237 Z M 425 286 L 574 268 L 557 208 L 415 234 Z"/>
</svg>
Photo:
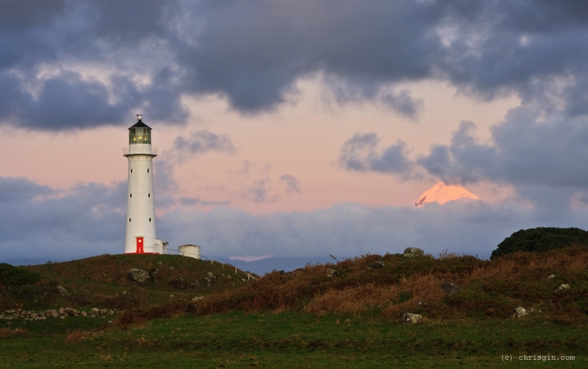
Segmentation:
<svg viewBox="0 0 588 369">
<path fill-rule="evenodd" d="M 579 228 L 540 227 L 519 230 L 500 242 L 490 259 L 517 251 L 544 252 L 572 245 L 588 245 L 588 232 Z"/>
</svg>

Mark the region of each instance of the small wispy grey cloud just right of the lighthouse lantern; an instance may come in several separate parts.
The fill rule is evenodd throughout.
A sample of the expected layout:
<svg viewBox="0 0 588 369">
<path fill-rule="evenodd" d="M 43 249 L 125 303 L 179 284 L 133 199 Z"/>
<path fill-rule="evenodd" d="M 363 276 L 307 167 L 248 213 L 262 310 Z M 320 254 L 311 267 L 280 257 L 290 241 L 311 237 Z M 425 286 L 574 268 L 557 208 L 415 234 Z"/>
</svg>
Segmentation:
<svg viewBox="0 0 588 369">
<path fill-rule="evenodd" d="M 234 144 L 228 134 L 215 134 L 207 129 L 190 132 L 187 137 L 177 137 L 173 143 L 173 151 L 177 161 L 185 161 L 190 156 L 204 154 L 208 151 L 220 151 L 234 154 Z"/>
</svg>

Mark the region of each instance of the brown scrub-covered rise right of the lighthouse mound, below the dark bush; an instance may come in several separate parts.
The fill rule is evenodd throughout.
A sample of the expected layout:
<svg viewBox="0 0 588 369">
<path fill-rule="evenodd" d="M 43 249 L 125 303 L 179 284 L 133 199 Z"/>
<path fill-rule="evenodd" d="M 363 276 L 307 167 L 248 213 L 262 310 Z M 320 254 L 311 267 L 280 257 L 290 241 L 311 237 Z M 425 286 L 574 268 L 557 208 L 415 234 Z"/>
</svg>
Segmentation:
<svg viewBox="0 0 588 369">
<path fill-rule="evenodd" d="M 504 319 L 522 306 L 537 318 L 564 324 L 579 324 L 588 314 L 586 246 L 542 254 L 515 252 L 495 260 L 442 256 L 364 255 L 337 264 L 309 264 L 289 273 L 274 271 L 199 301 L 173 301 L 164 308 L 130 312 L 120 317 L 120 323 L 169 316 L 170 311 L 368 314 L 396 321 L 406 312 L 425 319 Z M 446 282 L 457 285 L 458 291 L 445 292 Z M 556 291 L 562 284 L 570 288 Z"/>
</svg>

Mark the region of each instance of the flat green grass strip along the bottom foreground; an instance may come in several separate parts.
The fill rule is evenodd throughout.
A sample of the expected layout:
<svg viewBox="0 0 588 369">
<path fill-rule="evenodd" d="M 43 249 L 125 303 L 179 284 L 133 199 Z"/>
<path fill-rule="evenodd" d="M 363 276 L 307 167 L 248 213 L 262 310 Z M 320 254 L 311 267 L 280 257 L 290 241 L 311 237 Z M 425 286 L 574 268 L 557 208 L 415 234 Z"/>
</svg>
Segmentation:
<svg viewBox="0 0 588 369">
<path fill-rule="evenodd" d="M 584 327 L 537 319 L 398 321 L 297 312 L 12 321 L 0 368 L 587 368 Z M 512 355 L 505 362 L 502 355 Z M 519 360 L 520 355 L 574 360 Z"/>
</svg>

